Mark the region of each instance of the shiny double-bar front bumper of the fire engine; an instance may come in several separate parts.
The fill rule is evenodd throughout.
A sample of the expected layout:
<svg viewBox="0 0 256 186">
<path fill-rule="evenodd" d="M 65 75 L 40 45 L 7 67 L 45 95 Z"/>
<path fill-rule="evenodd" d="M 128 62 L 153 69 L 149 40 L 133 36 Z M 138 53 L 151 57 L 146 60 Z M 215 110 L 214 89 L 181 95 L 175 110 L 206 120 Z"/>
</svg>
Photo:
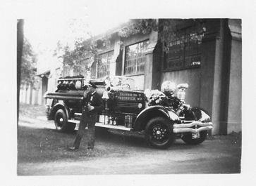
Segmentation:
<svg viewBox="0 0 256 186">
<path fill-rule="evenodd" d="M 173 124 L 173 133 L 199 133 L 212 130 L 212 122 L 192 121 L 189 124 Z"/>
</svg>

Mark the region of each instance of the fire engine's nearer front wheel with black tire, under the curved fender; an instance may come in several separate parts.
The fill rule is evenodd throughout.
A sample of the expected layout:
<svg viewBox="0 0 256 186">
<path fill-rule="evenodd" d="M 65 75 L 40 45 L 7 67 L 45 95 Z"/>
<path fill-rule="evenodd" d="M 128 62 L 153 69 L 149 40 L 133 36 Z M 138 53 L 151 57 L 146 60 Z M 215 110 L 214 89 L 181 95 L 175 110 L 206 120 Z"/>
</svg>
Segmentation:
<svg viewBox="0 0 256 186">
<path fill-rule="evenodd" d="M 163 117 L 150 119 L 145 128 L 145 139 L 152 147 L 159 149 L 170 147 L 175 140 L 173 124 Z"/>
</svg>

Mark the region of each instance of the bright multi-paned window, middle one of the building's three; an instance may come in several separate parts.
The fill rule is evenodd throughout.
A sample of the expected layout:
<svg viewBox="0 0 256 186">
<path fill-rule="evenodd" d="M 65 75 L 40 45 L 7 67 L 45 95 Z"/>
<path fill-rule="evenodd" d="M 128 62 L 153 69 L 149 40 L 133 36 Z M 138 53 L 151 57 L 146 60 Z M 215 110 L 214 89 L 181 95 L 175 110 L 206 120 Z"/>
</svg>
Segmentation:
<svg viewBox="0 0 256 186">
<path fill-rule="evenodd" d="M 145 51 L 150 41 L 126 46 L 126 60 L 124 62 L 125 75 L 144 74 L 146 61 Z"/>
</svg>

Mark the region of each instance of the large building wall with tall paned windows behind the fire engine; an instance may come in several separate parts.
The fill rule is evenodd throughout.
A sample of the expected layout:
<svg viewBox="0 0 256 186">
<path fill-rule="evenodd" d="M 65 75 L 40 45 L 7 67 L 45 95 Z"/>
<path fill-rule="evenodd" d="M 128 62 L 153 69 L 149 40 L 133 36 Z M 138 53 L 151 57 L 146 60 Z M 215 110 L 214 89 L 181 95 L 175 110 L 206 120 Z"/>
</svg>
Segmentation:
<svg viewBox="0 0 256 186">
<path fill-rule="evenodd" d="M 161 26 L 164 20 L 157 20 Z M 111 44 L 92 63 L 91 76 L 121 75 L 135 79 L 139 90 L 160 89 L 173 81 L 187 83 L 185 102 L 206 109 L 214 122 L 213 134 L 241 131 L 242 39 L 241 20 L 203 20 L 206 30 L 193 42 L 195 25 L 178 25 L 178 36 L 161 41 L 161 28 L 149 34 L 118 36 L 110 32 Z M 109 33 L 108 33 L 109 34 Z"/>
</svg>

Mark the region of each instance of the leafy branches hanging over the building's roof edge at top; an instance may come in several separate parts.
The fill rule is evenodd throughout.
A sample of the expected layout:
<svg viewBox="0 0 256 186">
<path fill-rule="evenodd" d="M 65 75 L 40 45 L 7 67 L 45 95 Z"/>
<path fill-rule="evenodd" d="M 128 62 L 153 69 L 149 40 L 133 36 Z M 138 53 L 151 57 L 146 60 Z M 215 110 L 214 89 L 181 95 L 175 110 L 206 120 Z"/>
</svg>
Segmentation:
<svg viewBox="0 0 256 186">
<path fill-rule="evenodd" d="M 158 31 L 159 40 L 164 44 L 164 51 L 168 52 L 169 41 L 181 39 L 183 36 L 181 27 L 193 27 L 193 32 L 190 33 L 191 41 L 201 42 L 205 36 L 206 27 L 202 19 L 136 19 L 131 20 L 118 35 L 127 38 L 139 33 L 150 34 L 152 31 Z"/>
</svg>

